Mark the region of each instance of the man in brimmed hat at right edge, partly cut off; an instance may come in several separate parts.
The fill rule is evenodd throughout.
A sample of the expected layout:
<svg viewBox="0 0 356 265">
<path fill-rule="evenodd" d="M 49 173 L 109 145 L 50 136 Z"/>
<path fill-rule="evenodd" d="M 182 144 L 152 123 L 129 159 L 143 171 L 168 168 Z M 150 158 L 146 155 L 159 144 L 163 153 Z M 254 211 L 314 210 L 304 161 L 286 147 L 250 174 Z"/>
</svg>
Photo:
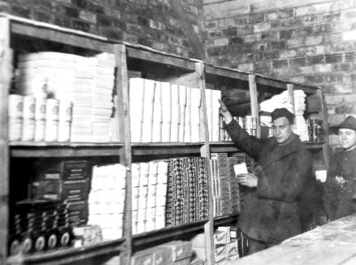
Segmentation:
<svg viewBox="0 0 356 265">
<path fill-rule="evenodd" d="M 329 221 L 356 213 L 356 118 L 346 117 L 332 127 L 343 150 L 332 156 L 324 186 L 324 208 Z"/>
</svg>

